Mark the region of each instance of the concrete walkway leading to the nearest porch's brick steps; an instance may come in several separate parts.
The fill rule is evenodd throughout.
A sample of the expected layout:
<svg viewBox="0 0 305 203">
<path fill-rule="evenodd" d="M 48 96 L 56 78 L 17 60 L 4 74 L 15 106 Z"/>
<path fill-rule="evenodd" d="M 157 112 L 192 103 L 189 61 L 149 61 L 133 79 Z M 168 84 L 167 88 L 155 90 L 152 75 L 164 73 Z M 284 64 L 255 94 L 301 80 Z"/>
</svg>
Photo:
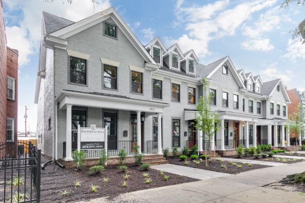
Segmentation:
<svg viewBox="0 0 305 203">
<path fill-rule="evenodd" d="M 199 168 L 193 168 L 182 165 L 174 165 L 174 164 L 162 164 L 162 165 L 152 165 L 151 168 L 154 168 L 159 171 L 164 171 L 172 174 L 182 175 L 190 178 L 196 178 L 199 180 L 206 180 L 211 178 L 218 178 L 222 176 L 228 176 L 229 174 L 213 172 L 202 170 Z"/>
</svg>

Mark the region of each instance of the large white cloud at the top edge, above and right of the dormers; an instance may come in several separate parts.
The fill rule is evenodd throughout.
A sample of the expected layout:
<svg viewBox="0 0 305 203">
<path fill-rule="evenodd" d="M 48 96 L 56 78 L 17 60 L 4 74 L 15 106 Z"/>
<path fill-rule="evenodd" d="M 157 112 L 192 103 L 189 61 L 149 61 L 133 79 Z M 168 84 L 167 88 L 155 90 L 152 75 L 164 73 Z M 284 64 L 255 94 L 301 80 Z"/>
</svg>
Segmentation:
<svg viewBox="0 0 305 203">
<path fill-rule="evenodd" d="M 177 26 L 185 23 L 187 33 L 168 42 L 178 43 L 182 51 L 192 48 L 199 57 L 204 57 L 211 54 L 208 50 L 211 40 L 234 35 L 235 30 L 251 18 L 253 13 L 271 7 L 276 2 L 277 0 L 256 0 L 240 3 L 232 9 L 227 9 L 228 0 L 189 7 L 184 7 L 184 1 L 180 0 L 176 3 L 177 19 L 173 24 Z"/>
</svg>

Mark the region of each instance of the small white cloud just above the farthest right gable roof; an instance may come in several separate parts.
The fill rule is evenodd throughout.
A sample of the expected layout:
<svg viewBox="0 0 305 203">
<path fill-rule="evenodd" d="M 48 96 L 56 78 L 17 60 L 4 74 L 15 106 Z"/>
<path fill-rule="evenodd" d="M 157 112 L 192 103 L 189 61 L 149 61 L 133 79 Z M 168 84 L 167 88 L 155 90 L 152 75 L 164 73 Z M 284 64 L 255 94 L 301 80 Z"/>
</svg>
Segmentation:
<svg viewBox="0 0 305 203">
<path fill-rule="evenodd" d="M 264 78 L 264 81 L 274 80 L 281 78 L 284 84 L 287 84 L 289 81 L 291 81 L 293 75 L 291 71 L 281 71 L 278 69 L 278 63 L 272 63 L 268 65 L 268 67 L 260 71 L 260 75 Z"/>
</svg>

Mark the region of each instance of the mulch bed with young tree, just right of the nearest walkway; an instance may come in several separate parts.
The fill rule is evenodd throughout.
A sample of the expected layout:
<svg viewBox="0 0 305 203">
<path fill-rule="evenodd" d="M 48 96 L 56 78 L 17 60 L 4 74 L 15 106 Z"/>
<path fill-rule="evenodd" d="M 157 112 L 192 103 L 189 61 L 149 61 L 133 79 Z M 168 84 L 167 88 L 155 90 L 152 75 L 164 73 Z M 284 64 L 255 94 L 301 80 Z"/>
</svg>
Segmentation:
<svg viewBox="0 0 305 203">
<path fill-rule="evenodd" d="M 203 170 L 226 173 L 226 174 L 239 174 L 241 172 L 251 171 L 251 170 L 258 169 L 258 168 L 270 167 L 267 165 L 259 165 L 259 164 L 252 164 L 252 166 L 249 166 L 248 164 L 242 164 L 242 163 L 236 162 L 237 165 L 241 165 L 241 168 L 238 168 L 237 165 L 234 166 L 232 164 L 229 164 L 229 161 L 221 162 L 220 161 L 221 158 L 217 158 L 216 161 L 214 161 L 213 159 L 211 161 L 208 161 L 207 166 L 205 166 L 205 160 L 203 160 L 202 162 L 200 162 L 199 165 L 197 165 L 189 157 L 187 158 L 187 161 L 188 161 L 187 165 L 185 164 L 185 161 L 181 161 L 178 157 L 170 158 L 168 160 L 169 160 L 169 163 L 171 163 L 171 164 L 183 165 L 183 166 L 188 166 L 188 167 L 193 167 L 193 168 L 200 168 Z M 221 165 L 225 165 L 227 167 L 227 169 L 221 167 Z"/>
</svg>

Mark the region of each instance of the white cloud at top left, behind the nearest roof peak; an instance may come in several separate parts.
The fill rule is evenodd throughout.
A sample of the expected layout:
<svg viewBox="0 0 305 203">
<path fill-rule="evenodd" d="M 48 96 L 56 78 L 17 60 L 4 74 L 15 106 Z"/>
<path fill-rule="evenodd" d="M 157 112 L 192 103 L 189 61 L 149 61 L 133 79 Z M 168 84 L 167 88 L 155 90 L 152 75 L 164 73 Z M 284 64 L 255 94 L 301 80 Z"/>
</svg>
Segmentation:
<svg viewBox="0 0 305 203">
<path fill-rule="evenodd" d="M 41 40 L 42 11 L 78 21 L 100 10 L 110 7 L 109 0 L 74 0 L 71 5 L 62 1 L 46 3 L 42 0 L 11 1 L 5 0 L 8 11 L 21 10 L 23 19 L 14 26 L 6 27 L 8 46 L 19 50 L 20 66 L 29 62 L 29 56 L 39 51 Z"/>
</svg>

